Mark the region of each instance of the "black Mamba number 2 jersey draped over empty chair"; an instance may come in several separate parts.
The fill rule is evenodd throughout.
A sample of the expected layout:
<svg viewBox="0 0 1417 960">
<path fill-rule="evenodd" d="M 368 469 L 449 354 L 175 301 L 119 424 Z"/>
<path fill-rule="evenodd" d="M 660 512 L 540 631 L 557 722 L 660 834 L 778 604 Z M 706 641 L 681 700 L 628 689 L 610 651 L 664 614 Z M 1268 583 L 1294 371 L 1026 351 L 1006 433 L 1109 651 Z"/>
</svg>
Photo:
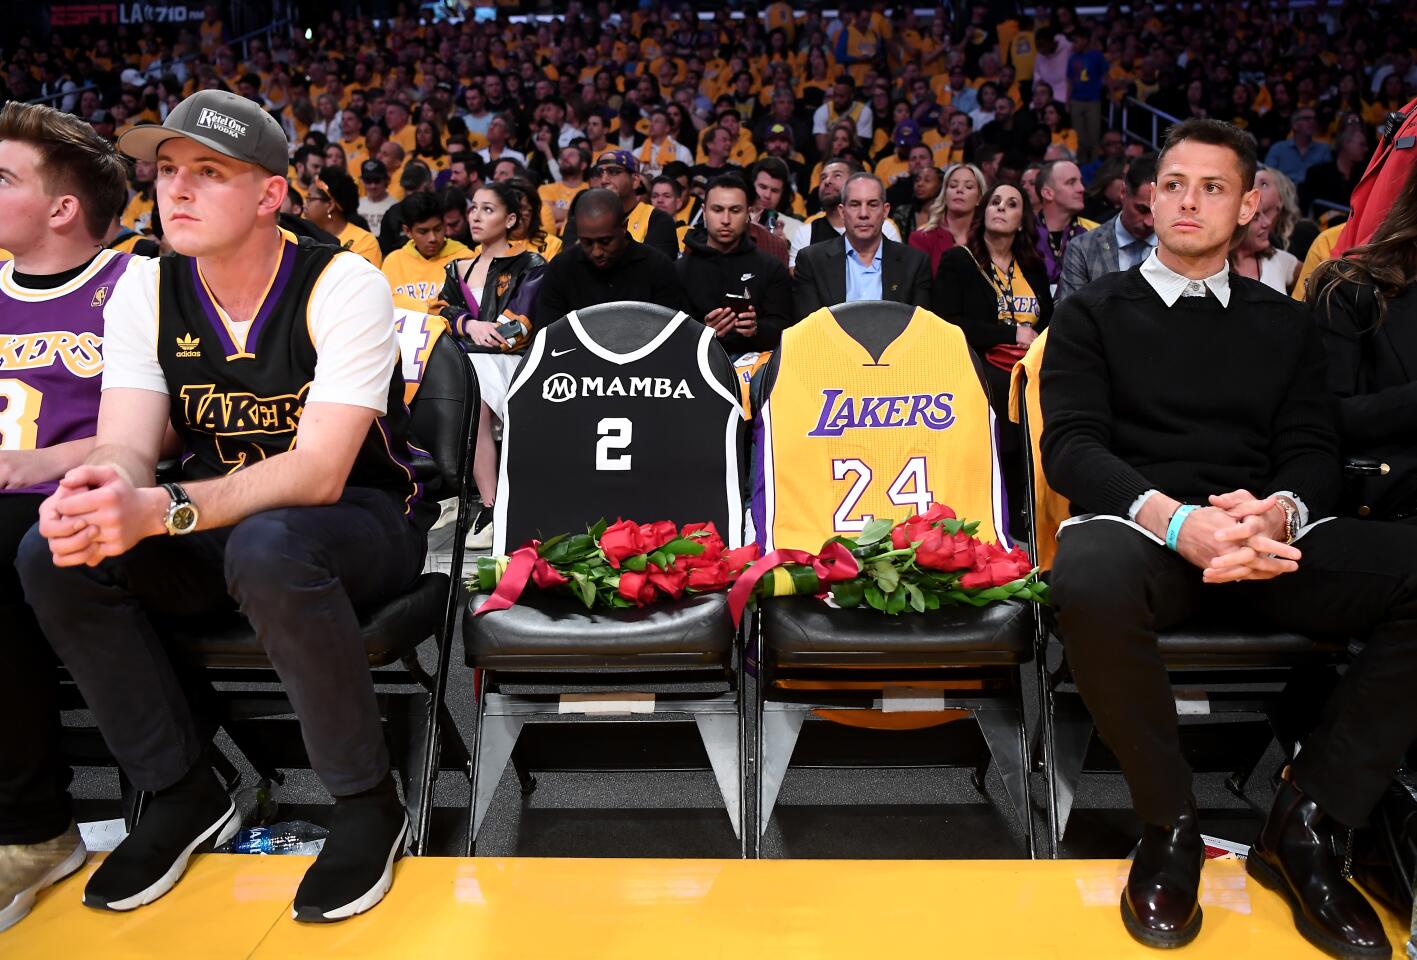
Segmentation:
<svg viewBox="0 0 1417 960">
<path fill-rule="evenodd" d="M 631 353 L 592 340 L 574 311 L 541 330 L 507 393 L 493 552 L 602 518 L 713 520 L 741 546 L 743 408 L 711 350 L 713 330 L 683 313 Z"/>
</svg>

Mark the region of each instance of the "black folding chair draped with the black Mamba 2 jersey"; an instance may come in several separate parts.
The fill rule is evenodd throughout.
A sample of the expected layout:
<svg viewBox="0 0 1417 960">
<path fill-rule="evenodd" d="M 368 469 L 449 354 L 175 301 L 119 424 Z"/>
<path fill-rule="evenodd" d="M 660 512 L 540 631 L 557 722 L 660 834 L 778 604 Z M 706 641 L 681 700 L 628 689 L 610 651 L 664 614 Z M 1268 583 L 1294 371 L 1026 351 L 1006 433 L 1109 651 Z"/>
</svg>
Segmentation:
<svg viewBox="0 0 1417 960">
<path fill-rule="evenodd" d="M 582 309 L 577 316 L 608 349 L 631 352 L 653 340 L 667 322 L 682 315 L 649 303 L 619 302 Z M 687 318 L 683 322 L 694 323 Z M 621 340 L 619 346 L 611 342 L 612 337 Z M 716 343 L 708 347 L 708 369 L 737 396 L 727 355 Z M 538 440 L 537 425 L 544 421 L 529 428 L 513 415 L 509 430 L 513 435 L 527 431 L 531 440 Z M 724 432 L 723 421 L 683 423 L 682 427 L 720 438 Z M 571 528 L 599 519 L 684 523 L 713 515 L 704 512 L 700 496 L 686 492 L 679 518 L 638 516 L 640 485 L 663 484 L 672 491 L 691 491 L 694 482 L 711 486 L 704 478 L 706 467 L 699 462 L 663 462 L 657 469 L 662 475 L 639 467 L 633 475 L 623 474 L 623 489 L 611 493 L 614 502 L 570 498 L 558 508 L 575 512 L 574 522 L 567 520 Z M 558 476 L 567 491 L 585 489 L 585 481 L 568 468 Z M 602 485 L 608 482 L 601 478 Z M 512 486 L 499 498 L 516 496 L 514 482 Z M 718 496 L 738 498 L 741 505 L 741 489 L 724 489 Z M 560 526 L 544 530 L 546 535 L 575 532 Z M 731 542 L 728 530 L 721 533 Z M 499 532 L 499 536 L 510 547 L 530 532 Z M 470 598 L 462 631 L 466 662 L 478 671 L 478 727 L 468 803 L 469 856 L 476 852 L 478 834 L 509 761 L 523 794 L 529 794 L 536 788 L 533 774 L 537 770 L 703 769 L 703 761 L 686 753 L 694 750 L 691 739 L 701 742 L 734 835 L 740 847 L 745 845 L 743 666 L 726 594 L 686 596 L 677 603 L 592 613 L 578 600 L 527 587 L 513 607 L 476 615 L 489 597 L 480 593 Z M 594 722 L 567 722 L 567 713 Z M 640 719 L 633 719 L 636 716 Z"/>
</svg>

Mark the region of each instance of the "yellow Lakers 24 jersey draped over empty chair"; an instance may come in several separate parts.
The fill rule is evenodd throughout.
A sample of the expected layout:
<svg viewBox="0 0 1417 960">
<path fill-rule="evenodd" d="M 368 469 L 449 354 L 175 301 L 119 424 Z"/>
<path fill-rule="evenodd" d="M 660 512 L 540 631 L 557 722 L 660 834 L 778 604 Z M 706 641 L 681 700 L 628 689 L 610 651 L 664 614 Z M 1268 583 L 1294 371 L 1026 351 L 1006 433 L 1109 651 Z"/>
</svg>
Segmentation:
<svg viewBox="0 0 1417 960">
<path fill-rule="evenodd" d="M 924 308 L 880 359 L 822 308 L 789 326 L 754 425 L 764 550 L 818 550 L 948 503 L 1007 546 L 995 418 L 964 332 Z"/>
</svg>

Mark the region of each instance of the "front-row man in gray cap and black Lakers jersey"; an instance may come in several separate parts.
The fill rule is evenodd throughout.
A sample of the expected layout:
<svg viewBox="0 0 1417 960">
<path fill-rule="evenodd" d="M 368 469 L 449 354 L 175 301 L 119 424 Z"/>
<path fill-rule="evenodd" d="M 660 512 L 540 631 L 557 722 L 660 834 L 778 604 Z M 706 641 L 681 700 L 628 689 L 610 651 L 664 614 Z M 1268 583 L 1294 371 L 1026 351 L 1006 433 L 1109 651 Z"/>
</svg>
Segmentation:
<svg viewBox="0 0 1417 960">
<path fill-rule="evenodd" d="M 150 796 L 84 902 L 150 903 L 239 827 L 157 631 L 239 611 L 334 797 L 295 917 L 339 920 L 383 899 L 408 831 L 356 615 L 407 588 L 427 547 L 393 299 L 361 257 L 276 228 L 288 143 L 259 105 L 201 91 L 122 150 L 156 160 L 177 252 L 135 261 L 108 296 L 95 448 L 40 506 L 16 564 Z M 157 485 L 169 423 L 180 482 Z"/>
</svg>

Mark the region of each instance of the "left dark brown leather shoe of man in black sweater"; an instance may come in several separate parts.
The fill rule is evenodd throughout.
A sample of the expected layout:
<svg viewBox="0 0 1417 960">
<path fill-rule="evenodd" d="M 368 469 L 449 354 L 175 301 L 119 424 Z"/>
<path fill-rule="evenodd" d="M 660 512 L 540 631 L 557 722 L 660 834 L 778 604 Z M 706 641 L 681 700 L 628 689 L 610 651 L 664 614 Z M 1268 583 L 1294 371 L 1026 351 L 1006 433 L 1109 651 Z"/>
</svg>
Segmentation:
<svg viewBox="0 0 1417 960">
<path fill-rule="evenodd" d="M 1146 824 L 1122 891 L 1122 925 L 1141 943 L 1162 950 L 1183 947 L 1200 933 L 1200 841 L 1196 805 L 1170 827 Z"/>
</svg>

